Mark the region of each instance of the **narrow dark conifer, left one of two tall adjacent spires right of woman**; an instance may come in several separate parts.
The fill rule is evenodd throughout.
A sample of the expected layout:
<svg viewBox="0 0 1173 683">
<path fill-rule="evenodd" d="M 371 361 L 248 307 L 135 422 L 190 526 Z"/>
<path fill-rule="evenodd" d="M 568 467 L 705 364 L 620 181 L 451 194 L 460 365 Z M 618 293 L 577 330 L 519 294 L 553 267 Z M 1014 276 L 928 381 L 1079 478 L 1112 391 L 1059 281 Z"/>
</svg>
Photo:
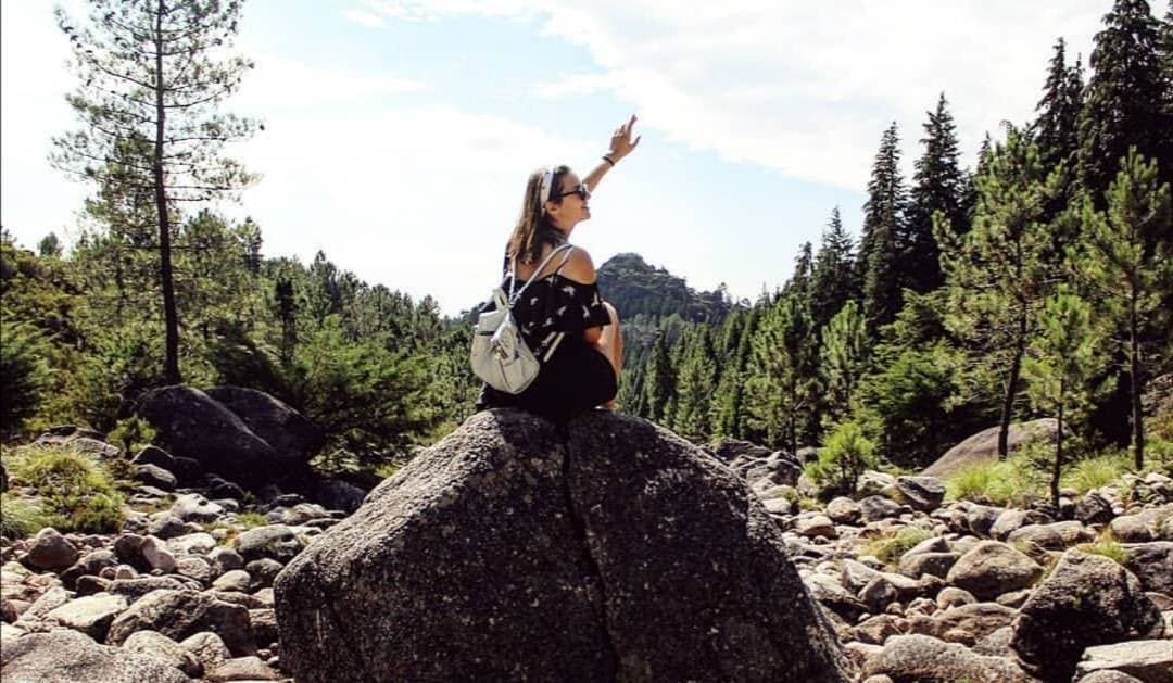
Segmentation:
<svg viewBox="0 0 1173 683">
<path fill-rule="evenodd" d="M 863 204 L 859 264 L 862 268 L 863 315 L 873 337 L 900 310 L 904 203 L 900 138 L 894 121 L 881 138 L 868 182 L 868 201 Z"/>
</svg>

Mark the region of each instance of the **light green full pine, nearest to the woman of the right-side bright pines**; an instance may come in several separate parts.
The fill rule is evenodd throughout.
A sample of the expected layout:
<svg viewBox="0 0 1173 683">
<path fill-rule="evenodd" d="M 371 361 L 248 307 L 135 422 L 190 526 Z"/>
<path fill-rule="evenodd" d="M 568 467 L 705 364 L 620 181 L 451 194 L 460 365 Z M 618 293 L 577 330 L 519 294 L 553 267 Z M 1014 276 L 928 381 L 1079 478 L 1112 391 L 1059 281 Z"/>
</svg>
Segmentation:
<svg viewBox="0 0 1173 683">
<path fill-rule="evenodd" d="M 754 334 L 746 372 L 747 426 L 772 446 L 798 451 L 815 395 L 811 317 L 796 297 L 784 297 Z"/>
</svg>

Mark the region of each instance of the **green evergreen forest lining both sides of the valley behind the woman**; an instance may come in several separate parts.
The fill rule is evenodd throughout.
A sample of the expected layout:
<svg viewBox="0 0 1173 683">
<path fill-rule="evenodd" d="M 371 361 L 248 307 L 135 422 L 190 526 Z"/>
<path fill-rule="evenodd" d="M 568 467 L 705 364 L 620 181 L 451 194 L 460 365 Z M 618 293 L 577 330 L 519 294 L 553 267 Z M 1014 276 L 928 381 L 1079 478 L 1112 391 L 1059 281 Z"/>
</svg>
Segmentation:
<svg viewBox="0 0 1173 683">
<path fill-rule="evenodd" d="M 93 189 L 80 238 L 0 241 L 4 440 L 133 432 L 152 387 L 238 385 L 321 425 L 321 467 L 379 468 L 472 414 L 469 315 L 325 253 L 267 255 L 279 226 L 209 208 L 256 181 L 223 154 L 258 129 L 222 110 L 251 63 L 212 49 L 239 2 L 192 4 L 199 29 L 157 33 L 167 50 L 127 6 L 90 5 L 87 27 L 59 14 L 79 128 L 52 157 Z M 144 55 L 163 53 L 187 60 L 170 70 L 184 82 L 156 87 Z M 1051 417 L 1071 457 L 1173 461 L 1173 417 L 1146 403 L 1173 373 L 1173 2 L 1116 0 L 1086 60 L 1060 39 L 1037 79 L 1033 120 L 989 131 L 974 168 L 948 93 L 917 129 L 877 130 L 862 225 L 828 207 L 821 241 L 757 300 L 633 253 L 603 264 L 624 319 L 619 410 L 696 442 L 853 442 L 904 468 L 991 426 L 1005 453 L 1012 422 Z M 902 135 L 920 143 L 911 177 Z"/>
</svg>

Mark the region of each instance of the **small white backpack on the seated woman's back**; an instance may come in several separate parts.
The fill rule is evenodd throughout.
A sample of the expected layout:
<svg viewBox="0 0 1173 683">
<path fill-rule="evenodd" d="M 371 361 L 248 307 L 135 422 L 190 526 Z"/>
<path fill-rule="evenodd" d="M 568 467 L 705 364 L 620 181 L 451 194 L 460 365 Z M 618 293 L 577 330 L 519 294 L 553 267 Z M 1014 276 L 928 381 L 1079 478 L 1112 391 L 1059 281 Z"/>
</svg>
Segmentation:
<svg viewBox="0 0 1173 683">
<path fill-rule="evenodd" d="M 570 258 L 570 249 L 574 249 L 570 244 L 563 244 L 551 251 L 534 270 L 529 282 L 516 292 L 514 286 L 517 283 L 517 263 L 514 261 L 513 271 L 509 273 L 509 293 L 506 295 L 500 286 L 493 290 L 491 300 L 495 307 L 481 313 L 477 318 L 476 327 L 473 330 L 473 352 L 470 356 L 473 373 L 493 388 L 516 394 L 526 391 L 537 379 L 537 373 L 542 367 L 541 363 L 526 345 L 521 330 L 517 329 L 517 322 L 514 320 L 513 307 L 526 289 L 537 279 L 537 275 L 554 258 L 554 255 L 568 250 L 557 269 L 562 270 L 562 266 Z M 550 332 L 550 336 L 554 339 L 545 356 L 542 357 L 543 363 L 554 354 L 554 350 L 558 347 L 565 332 Z M 550 342 L 550 337 L 547 337 L 544 342 Z"/>
</svg>

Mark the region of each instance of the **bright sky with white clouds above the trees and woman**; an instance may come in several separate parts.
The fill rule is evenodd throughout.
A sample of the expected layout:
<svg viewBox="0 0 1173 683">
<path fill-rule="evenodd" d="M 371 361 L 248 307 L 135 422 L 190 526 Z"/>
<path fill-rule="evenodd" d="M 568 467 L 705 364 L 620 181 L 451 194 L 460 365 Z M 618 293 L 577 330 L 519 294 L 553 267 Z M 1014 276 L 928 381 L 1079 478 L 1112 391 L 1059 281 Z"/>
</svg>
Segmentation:
<svg viewBox="0 0 1173 683">
<path fill-rule="evenodd" d="M 81 15 L 81 0 L 62 5 Z M 35 248 L 76 238 L 93 191 L 49 167 L 80 124 L 50 0 L 0 1 L 0 224 Z M 1110 0 L 248 0 L 255 61 L 224 110 L 264 130 L 228 153 L 260 181 L 219 210 L 266 256 L 318 251 L 369 284 L 455 315 L 500 276 L 526 181 L 585 175 L 638 115 L 639 147 L 572 242 L 596 265 L 635 251 L 735 298 L 780 286 L 833 208 L 859 234 L 895 121 L 911 177 L 944 93 L 962 165 L 1032 117 L 1056 39 L 1084 55 Z M 604 292 L 605 296 L 605 292 Z M 621 311 L 622 315 L 622 311 Z"/>
</svg>

